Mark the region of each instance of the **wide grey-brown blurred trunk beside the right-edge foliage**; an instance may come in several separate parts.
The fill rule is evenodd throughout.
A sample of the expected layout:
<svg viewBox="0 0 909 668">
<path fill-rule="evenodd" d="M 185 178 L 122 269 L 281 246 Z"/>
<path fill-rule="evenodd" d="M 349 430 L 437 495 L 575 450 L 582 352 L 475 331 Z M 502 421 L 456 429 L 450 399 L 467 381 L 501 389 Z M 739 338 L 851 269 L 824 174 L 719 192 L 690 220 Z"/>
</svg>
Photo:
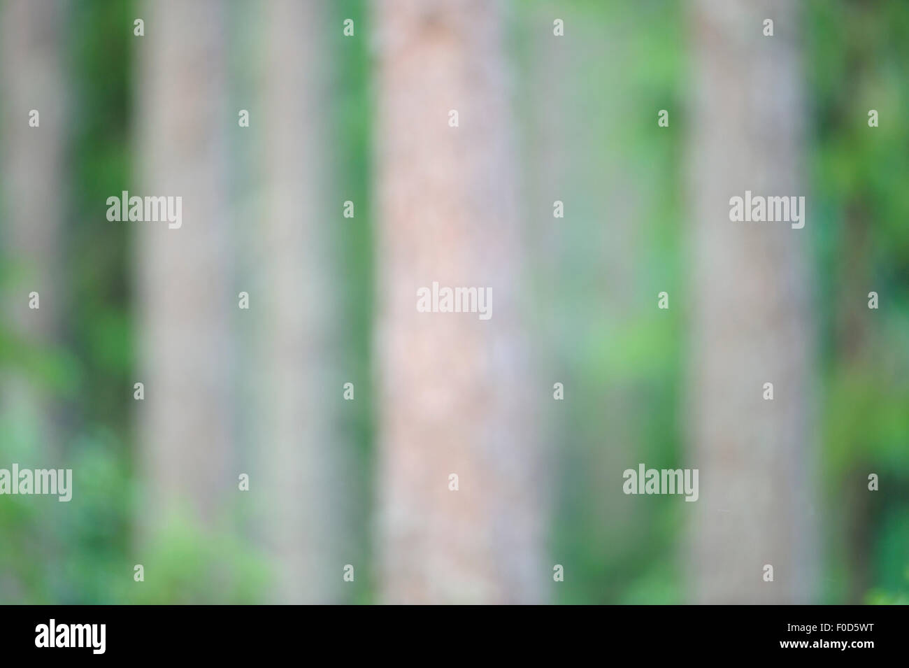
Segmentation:
<svg viewBox="0 0 909 668">
<path fill-rule="evenodd" d="M 817 563 L 812 310 L 797 5 L 698 0 L 689 192 L 694 207 L 691 565 L 701 603 L 806 603 Z M 774 20 L 774 36 L 762 33 Z M 734 223 L 729 199 L 806 195 L 804 229 Z M 764 401 L 763 384 L 774 384 Z M 764 564 L 774 582 L 764 582 Z"/>
</svg>

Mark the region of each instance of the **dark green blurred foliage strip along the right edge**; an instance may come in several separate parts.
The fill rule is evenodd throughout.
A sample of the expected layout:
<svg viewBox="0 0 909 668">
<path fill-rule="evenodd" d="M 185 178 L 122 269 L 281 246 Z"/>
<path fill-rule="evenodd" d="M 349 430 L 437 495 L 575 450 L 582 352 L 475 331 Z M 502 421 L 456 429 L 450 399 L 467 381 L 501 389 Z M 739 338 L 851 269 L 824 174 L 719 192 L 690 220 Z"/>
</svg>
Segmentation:
<svg viewBox="0 0 909 668">
<path fill-rule="evenodd" d="M 904 516 L 909 480 L 909 6 L 816 0 L 804 25 L 825 371 L 823 492 L 841 508 L 829 517 L 827 553 L 844 577 L 861 579 L 854 570 L 868 569 L 869 601 L 895 602 L 905 583 L 893 573 L 909 564 L 904 523 L 892 514 Z M 868 125 L 871 109 L 878 127 Z M 867 308 L 871 291 L 880 296 L 877 311 Z M 880 475 L 879 492 L 865 489 L 869 473 Z M 843 494 L 854 503 L 841 506 Z M 874 494 L 874 503 L 859 503 L 863 494 Z M 828 595 L 841 603 L 848 594 L 834 585 Z"/>
</svg>

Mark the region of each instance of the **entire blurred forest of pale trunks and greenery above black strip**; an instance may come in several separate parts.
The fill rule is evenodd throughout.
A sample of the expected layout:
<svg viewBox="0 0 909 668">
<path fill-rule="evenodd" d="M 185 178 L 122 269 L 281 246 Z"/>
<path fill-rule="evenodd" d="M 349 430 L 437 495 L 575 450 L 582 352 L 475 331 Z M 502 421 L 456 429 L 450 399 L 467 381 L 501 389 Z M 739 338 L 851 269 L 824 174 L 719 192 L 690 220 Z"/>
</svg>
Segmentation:
<svg viewBox="0 0 909 668">
<path fill-rule="evenodd" d="M 0 603 L 909 603 L 907 65 L 898 0 L 0 2 L 0 467 L 74 471 Z"/>
</svg>

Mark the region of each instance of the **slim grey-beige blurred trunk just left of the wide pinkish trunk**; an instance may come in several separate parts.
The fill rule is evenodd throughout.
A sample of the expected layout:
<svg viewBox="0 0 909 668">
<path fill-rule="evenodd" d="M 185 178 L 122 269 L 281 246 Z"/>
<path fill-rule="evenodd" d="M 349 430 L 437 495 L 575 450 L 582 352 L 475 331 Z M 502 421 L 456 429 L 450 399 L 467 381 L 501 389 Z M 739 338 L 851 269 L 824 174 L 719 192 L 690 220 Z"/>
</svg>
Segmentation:
<svg viewBox="0 0 909 668">
<path fill-rule="evenodd" d="M 346 563 L 345 490 L 352 482 L 343 476 L 338 403 L 345 380 L 355 379 L 336 374 L 335 304 L 342 295 L 332 234 L 343 219 L 340 200 L 331 216 L 326 207 L 331 59 L 324 9 L 296 0 L 265 5 L 261 105 L 252 112 L 265 195 L 254 240 L 261 282 L 251 306 L 261 324 L 255 434 L 264 477 L 256 485 L 266 496 L 277 603 L 340 600 Z"/>
</svg>

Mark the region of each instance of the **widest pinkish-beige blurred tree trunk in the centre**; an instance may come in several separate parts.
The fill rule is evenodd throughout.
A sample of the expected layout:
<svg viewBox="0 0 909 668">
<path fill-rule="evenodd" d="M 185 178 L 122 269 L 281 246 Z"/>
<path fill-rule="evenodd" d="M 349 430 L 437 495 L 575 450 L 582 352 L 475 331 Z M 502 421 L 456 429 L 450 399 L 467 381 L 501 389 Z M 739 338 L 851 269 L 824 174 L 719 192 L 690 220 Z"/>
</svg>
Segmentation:
<svg viewBox="0 0 909 668">
<path fill-rule="evenodd" d="M 535 602 L 552 582 L 530 399 L 551 390 L 531 373 L 520 314 L 524 248 L 499 7 L 374 5 L 386 602 Z M 433 281 L 491 287 L 492 318 L 417 313 L 417 290 Z"/>
</svg>

